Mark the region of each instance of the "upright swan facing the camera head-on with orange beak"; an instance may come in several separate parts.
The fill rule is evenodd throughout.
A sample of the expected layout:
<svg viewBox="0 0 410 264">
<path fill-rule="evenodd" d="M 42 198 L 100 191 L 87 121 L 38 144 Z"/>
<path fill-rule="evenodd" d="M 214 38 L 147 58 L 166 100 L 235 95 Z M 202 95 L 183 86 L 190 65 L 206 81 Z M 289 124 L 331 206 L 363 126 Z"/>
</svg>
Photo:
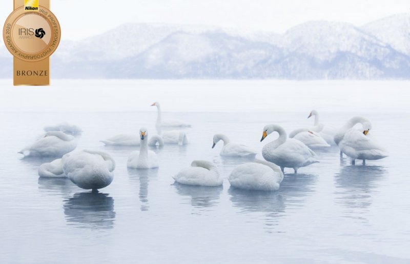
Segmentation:
<svg viewBox="0 0 410 264">
<path fill-rule="evenodd" d="M 155 152 L 148 150 L 148 130 L 141 128 L 139 130 L 141 148 L 139 151 L 133 151 L 128 157 L 128 168 L 134 169 L 152 169 L 158 167 L 158 157 Z"/>
</svg>

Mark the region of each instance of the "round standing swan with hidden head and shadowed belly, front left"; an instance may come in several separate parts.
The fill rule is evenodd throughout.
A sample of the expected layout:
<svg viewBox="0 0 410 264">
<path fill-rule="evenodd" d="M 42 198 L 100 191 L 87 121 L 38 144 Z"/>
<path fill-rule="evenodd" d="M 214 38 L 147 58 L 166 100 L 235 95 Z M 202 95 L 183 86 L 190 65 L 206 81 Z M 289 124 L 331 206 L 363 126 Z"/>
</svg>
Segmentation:
<svg viewBox="0 0 410 264">
<path fill-rule="evenodd" d="M 107 153 L 83 150 L 64 155 L 63 171 L 79 188 L 97 190 L 109 186 L 114 178 L 115 161 Z"/>
</svg>

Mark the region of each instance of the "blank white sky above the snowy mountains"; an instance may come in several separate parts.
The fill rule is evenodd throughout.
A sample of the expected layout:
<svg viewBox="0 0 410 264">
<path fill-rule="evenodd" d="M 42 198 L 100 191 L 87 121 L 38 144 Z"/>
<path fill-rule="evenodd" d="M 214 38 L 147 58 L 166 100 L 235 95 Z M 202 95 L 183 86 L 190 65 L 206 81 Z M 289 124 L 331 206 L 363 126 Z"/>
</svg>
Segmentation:
<svg viewBox="0 0 410 264">
<path fill-rule="evenodd" d="M 40 0 L 41 3 L 42 0 Z M 0 9 L 3 21 L 13 0 Z M 118 4 L 121 3 L 121 4 Z M 356 26 L 409 13 L 408 0 L 51 0 L 63 39 L 78 40 L 124 23 L 212 25 L 283 33 L 311 20 Z"/>
</svg>

